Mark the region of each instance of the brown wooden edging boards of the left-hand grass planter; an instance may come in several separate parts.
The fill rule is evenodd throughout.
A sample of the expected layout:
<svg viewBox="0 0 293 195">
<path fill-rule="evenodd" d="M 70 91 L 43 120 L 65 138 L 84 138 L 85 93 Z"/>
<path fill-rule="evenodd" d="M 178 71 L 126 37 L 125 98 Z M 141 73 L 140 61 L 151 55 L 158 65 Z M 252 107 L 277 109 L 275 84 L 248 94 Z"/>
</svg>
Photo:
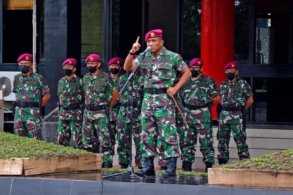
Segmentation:
<svg viewBox="0 0 293 195">
<path fill-rule="evenodd" d="M 31 176 L 48 173 L 100 170 L 101 155 L 64 156 L 51 158 L 0 159 L 0 175 Z"/>
</svg>

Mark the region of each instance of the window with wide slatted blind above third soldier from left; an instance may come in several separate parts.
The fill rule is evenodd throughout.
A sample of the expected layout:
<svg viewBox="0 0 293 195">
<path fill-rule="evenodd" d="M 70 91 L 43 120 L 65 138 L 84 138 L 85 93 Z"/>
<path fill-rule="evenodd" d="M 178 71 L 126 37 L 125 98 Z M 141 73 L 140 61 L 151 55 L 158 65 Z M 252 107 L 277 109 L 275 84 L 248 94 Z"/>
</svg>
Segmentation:
<svg viewBox="0 0 293 195">
<path fill-rule="evenodd" d="M 103 0 L 81 0 L 81 59 L 92 53 L 104 59 Z"/>
</svg>

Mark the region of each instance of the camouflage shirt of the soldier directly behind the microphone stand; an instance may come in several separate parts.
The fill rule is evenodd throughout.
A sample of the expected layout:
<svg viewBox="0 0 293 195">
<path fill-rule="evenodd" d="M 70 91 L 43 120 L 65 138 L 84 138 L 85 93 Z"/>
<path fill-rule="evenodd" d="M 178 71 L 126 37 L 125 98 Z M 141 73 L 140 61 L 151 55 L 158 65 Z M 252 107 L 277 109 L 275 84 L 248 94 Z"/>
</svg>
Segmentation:
<svg viewBox="0 0 293 195">
<path fill-rule="evenodd" d="M 125 73 L 124 75 L 120 76 L 118 81 L 118 91 L 122 89 L 122 87 L 125 85 L 129 73 Z M 124 88 L 122 94 L 121 94 L 121 102 L 123 103 L 130 103 L 132 102 L 139 102 L 139 92 L 138 88 L 140 86 L 140 73 L 138 72 L 135 76 L 134 81 L 130 80 L 127 84 L 127 86 Z M 133 82 L 132 82 L 133 81 Z M 133 83 L 133 84 L 132 84 Z M 132 90 L 132 100 L 131 100 L 131 87 L 133 86 Z M 130 107 L 124 107 L 121 105 L 121 108 L 119 110 L 119 118 L 121 122 L 128 123 L 130 122 Z M 137 107 L 133 107 L 133 113 L 132 113 L 132 122 L 138 122 L 140 120 L 140 113 L 138 112 Z"/>
</svg>

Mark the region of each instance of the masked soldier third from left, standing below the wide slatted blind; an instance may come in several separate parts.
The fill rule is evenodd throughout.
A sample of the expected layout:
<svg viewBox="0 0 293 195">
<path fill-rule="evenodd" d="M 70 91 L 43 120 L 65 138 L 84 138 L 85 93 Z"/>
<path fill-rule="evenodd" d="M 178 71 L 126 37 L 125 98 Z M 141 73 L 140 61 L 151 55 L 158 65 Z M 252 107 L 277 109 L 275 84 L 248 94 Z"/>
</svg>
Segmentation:
<svg viewBox="0 0 293 195">
<path fill-rule="evenodd" d="M 99 55 L 91 54 L 85 60 L 89 73 L 83 77 L 85 91 L 85 112 L 83 115 L 83 145 L 87 151 L 93 151 L 94 133 L 99 136 L 100 150 L 103 151 L 103 168 L 112 167 L 112 146 L 108 128 L 107 110 L 113 107 L 118 92 L 110 75 L 100 69 Z M 109 93 L 112 98 L 109 102 Z"/>
</svg>

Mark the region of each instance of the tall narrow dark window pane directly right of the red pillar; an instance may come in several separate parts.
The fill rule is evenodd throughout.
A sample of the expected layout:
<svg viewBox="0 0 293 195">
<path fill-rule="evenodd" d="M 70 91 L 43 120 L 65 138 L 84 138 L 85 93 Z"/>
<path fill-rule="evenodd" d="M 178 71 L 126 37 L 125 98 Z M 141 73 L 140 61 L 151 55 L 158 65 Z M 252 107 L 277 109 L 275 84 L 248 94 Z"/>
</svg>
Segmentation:
<svg viewBox="0 0 293 195">
<path fill-rule="evenodd" d="M 235 0 L 234 59 L 248 60 L 249 0 Z"/>
</svg>

